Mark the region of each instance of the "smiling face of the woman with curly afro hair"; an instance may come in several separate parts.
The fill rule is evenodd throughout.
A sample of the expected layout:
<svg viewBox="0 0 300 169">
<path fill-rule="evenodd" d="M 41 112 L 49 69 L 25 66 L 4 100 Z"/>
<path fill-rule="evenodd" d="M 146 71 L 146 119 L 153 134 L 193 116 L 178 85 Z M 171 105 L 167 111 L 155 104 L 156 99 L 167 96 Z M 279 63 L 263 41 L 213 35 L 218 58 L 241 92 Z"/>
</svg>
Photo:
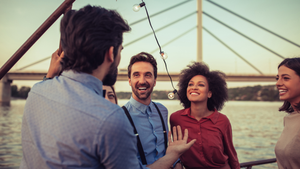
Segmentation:
<svg viewBox="0 0 300 169">
<path fill-rule="evenodd" d="M 190 79 L 187 86 L 187 99 L 191 102 L 207 101 L 211 97 L 211 91 L 208 89 L 208 82 L 202 75 L 196 75 Z"/>
</svg>

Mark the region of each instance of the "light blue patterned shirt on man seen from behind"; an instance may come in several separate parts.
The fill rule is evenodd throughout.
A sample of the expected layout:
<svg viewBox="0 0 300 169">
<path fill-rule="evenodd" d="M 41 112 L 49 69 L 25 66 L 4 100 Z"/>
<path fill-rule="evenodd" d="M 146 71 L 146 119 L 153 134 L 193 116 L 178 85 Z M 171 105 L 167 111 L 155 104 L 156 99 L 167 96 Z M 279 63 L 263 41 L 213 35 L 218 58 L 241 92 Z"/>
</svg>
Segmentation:
<svg viewBox="0 0 300 169">
<path fill-rule="evenodd" d="M 64 71 L 35 84 L 22 120 L 21 169 L 146 168 L 124 111 L 105 100 L 102 82 Z"/>
</svg>

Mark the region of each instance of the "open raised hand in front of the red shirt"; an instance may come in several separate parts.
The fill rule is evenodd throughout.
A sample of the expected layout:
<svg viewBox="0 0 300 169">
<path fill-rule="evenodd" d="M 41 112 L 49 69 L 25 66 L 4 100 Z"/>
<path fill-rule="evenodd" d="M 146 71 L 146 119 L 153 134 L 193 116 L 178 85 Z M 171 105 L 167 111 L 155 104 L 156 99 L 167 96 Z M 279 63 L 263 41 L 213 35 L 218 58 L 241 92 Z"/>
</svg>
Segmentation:
<svg viewBox="0 0 300 169">
<path fill-rule="evenodd" d="M 177 137 L 177 132 L 178 132 L 178 137 Z M 182 132 L 180 126 L 177 126 L 177 131 L 176 127 L 173 127 L 173 142 L 172 142 L 172 137 L 171 137 L 171 131 L 168 133 L 168 140 L 169 140 L 169 145 L 166 150 L 166 154 L 168 153 L 176 153 L 179 156 L 182 155 L 185 151 L 187 151 L 193 144 L 196 142 L 196 139 L 190 141 L 190 143 L 187 143 L 187 138 L 188 138 L 188 131 L 187 129 L 184 130 L 184 137 L 182 138 Z"/>
</svg>

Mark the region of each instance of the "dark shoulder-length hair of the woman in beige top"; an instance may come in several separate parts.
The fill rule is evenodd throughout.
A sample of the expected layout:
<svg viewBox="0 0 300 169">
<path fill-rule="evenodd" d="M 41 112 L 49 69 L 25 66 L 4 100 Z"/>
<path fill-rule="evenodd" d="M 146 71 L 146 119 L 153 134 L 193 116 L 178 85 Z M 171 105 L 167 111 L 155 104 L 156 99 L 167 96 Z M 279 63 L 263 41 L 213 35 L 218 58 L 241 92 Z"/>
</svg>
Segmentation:
<svg viewBox="0 0 300 169">
<path fill-rule="evenodd" d="M 286 66 L 287 68 L 292 69 L 300 78 L 300 57 L 286 58 L 278 65 L 278 69 L 280 66 Z M 300 110 L 300 102 L 294 106 L 297 111 Z M 283 105 L 279 108 L 279 111 L 292 113 L 294 112 L 294 109 L 292 108 L 291 103 L 289 103 L 288 101 L 284 101 Z"/>
</svg>

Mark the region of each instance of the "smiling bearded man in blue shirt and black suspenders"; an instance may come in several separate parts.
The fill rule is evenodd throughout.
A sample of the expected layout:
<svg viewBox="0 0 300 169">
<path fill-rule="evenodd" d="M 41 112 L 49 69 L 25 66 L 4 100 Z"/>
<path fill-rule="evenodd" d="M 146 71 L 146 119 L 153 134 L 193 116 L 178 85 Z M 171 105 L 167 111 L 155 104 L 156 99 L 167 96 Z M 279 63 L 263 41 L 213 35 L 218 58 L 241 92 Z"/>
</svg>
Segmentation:
<svg viewBox="0 0 300 169">
<path fill-rule="evenodd" d="M 130 101 L 122 108 L 138 134 L 138 159 L 144 166 L 154 163 L 166 154 L 168 145 L 168 110 L 151 100 L 156 85 L 157 63 L 146 52 L 134 55 L 128 65 L 128 81 L 132 88 Z M 183 169 L 178 159 L 173 166 Z"/>
</svg>

